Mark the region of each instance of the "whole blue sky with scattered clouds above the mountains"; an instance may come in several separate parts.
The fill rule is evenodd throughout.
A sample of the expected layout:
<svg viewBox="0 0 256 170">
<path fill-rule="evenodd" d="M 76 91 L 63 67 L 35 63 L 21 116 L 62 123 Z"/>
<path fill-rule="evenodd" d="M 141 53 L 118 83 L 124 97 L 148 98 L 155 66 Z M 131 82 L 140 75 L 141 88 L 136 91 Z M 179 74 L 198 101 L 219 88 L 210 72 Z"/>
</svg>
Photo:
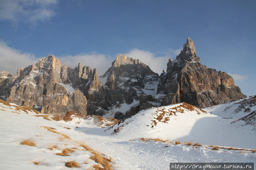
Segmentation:
<svg viewBox="0 0 256 170">
<path fill-rule="evenodd" d="M 102 75 L 118 54 L 160 74 L 190 37 L 201 64 L 256 95 L 255 0 L 0 0 L 0 71 L 55 55 Z"/>
</svg>

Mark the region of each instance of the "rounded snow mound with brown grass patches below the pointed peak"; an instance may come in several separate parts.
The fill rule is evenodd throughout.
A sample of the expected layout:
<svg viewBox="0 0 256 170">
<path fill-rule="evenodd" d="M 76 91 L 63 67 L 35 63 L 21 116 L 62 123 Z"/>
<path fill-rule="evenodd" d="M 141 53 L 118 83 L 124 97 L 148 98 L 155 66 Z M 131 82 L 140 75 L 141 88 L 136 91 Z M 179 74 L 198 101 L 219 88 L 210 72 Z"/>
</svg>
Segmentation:
<svg viewBox="0 0 256 170">
<path fill-rule="evenodd" d="M 253 126 L 239 126 L 236 119 L 222 119 L 195 106 L 181 103 L 151 108 L 109 127 L 119 138 L 159 138 L 180 142 L 256 149 Z"/>
</svg>

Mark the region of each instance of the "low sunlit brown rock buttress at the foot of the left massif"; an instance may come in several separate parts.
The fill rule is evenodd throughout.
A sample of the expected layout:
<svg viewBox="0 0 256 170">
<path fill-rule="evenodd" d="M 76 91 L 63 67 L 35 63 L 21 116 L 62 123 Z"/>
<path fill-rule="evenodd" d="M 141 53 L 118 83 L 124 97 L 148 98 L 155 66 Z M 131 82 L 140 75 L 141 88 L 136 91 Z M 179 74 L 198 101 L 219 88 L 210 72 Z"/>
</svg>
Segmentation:
<svg viewBox="0 0 256 170">
<path fill-rule="evenodd" d="M 74 91 L 70 96 L 68 94 L 57 96 L 49 104 L 43 106 L 41 113 L 66 113 L 75 111 L 82 115 L 87 115 L 87 99 L 80 90 Z"/>
</svg>

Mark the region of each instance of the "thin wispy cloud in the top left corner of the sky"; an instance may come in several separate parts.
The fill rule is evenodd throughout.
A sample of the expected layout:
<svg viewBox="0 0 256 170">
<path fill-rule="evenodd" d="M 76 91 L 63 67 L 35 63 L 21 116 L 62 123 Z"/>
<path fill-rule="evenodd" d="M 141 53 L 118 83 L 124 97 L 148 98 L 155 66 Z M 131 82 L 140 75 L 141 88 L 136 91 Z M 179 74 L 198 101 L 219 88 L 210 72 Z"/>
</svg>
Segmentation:
<svg viewBox="0 0 256 170">
<path fill-rule="evenodd" d="M 0 19 L 17 25 L 25 22 L 35 26 L 55 15 L 52 9 L 58 0 L 3 0 L 0 1 Z"/>
</svg>

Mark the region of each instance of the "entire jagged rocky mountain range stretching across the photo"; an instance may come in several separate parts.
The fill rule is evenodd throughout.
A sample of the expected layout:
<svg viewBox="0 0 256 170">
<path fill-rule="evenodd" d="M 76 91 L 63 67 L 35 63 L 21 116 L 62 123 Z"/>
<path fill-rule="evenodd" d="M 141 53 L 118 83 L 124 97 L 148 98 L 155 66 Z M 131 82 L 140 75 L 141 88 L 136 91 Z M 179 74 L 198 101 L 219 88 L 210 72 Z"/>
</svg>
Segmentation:
<svg viewBox="0 0 256 170">
<path fill-rule="evenodd" d="M 100 77 L 95 68 L 81 63 L 70 68 L 55 56 L 20 68 L 15 75 L 0 71 L 0 99 L 41 113 L 75 111 L 125 119 L 151 107 L 186 102 L 205 108 L 245 97 L 230 75 L 200 63 L 190 38 L 160 76 L 124 55 Z"/>
</svg>

